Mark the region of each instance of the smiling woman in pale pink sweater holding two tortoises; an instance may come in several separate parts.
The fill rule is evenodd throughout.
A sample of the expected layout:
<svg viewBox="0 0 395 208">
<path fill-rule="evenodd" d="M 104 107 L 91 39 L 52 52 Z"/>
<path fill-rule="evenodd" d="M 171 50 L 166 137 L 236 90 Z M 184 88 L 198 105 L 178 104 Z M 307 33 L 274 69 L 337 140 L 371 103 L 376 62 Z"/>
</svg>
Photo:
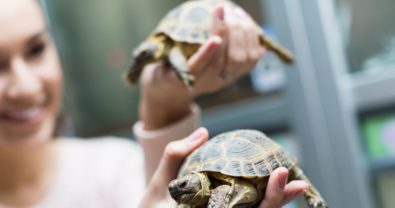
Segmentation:
<svg viewBox="0 0 395 208">
<path fill-rule="evenodd" d="M 194 93 L 159 62 L 144 69 L 141 121 L 134 126 L 141 148 L 115 138 L 53 137 L 62 72 L 40 5 L 0 0 L 0 208 L 175 207 L 167 184 L 182 160 L 208 139 L 204 128 L 189 135 L 199 117 L 193 97 L 231 83 L 263 54 L 248 33 L 252 21 L 244 11 L 225 16 L 224 21 L 223 9 L 216 10 L 213 36 L 188 62 L 197 77 Z M 221 80 L 217 69 L 233 80 Z M 284 168 L 275 170 L 260 208 L 280 207 L 305 193 L 305 182 L 285 185 L 287 174 Z"/>
</svg>

